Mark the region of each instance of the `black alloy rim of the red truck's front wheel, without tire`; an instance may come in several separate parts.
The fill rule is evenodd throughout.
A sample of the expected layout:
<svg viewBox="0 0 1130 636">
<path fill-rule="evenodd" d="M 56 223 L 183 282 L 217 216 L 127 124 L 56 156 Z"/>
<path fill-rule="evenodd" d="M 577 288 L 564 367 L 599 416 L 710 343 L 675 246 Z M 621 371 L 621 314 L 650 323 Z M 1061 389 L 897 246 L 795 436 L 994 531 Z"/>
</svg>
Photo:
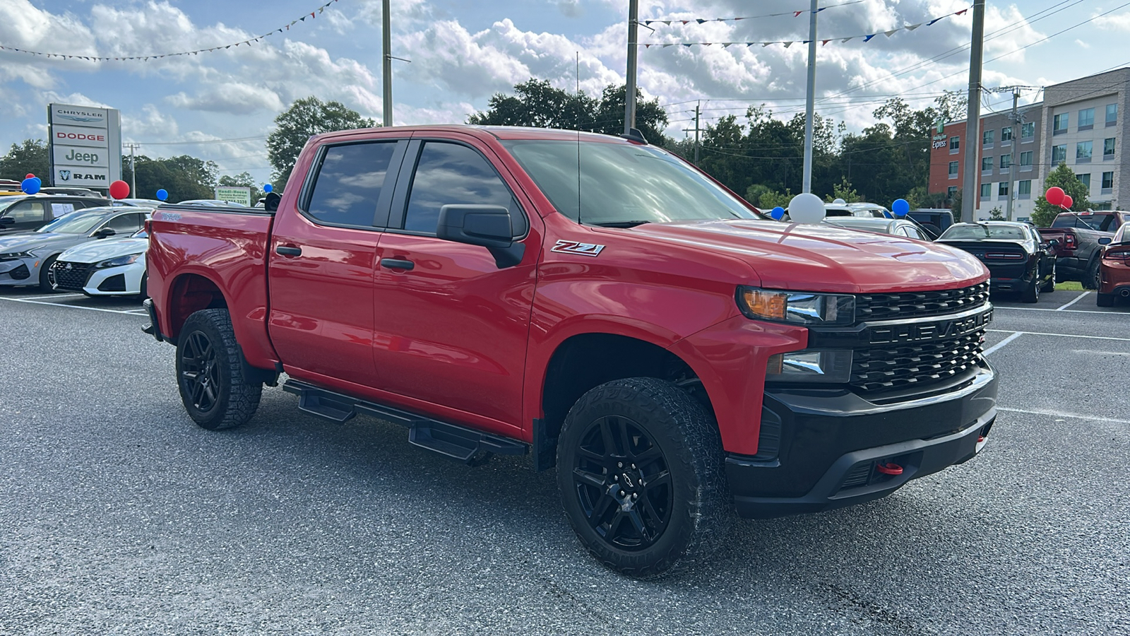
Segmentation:
<svg viewBox="0 0 1130 636">
<path fill-rule="evenodd" d="M 609 545 L 638 551 L 667 530 L 673 501 L 667 457 L 628 418 L 589 424 L 574 455 L 573 483 L 589 526 Z"/>
</svg>

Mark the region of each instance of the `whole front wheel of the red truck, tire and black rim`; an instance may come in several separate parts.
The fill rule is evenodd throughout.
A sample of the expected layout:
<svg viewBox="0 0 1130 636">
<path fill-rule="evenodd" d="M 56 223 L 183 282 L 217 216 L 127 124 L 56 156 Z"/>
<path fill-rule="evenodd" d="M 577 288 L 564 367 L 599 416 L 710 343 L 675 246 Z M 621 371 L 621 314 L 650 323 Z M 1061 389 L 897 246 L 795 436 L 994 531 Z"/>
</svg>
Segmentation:
<svg viewBox="0 0 1130 636">
<path fill-rule="evenodd" d="M 607 383 L 577 401 L 558 439 L 557 482 L 589 552 L 631 576 L 709 553 L 731 517 L 718 428 L 655 378 Z"/>
</svg>

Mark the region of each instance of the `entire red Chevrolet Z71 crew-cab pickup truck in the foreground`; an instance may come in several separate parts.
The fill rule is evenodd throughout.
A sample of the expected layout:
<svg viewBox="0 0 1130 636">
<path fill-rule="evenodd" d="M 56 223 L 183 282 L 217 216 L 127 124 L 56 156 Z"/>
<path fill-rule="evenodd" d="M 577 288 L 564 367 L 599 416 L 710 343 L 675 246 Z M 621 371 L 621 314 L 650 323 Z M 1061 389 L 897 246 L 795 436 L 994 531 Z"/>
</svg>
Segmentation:
<svg viewBox="0 0 1130 636">
<path fill-rule="evenodd" d="M 271 209 L 277 206 L 277 209 Z M 556 465 L 589 551 L 651 576 L 773 517 L 973 457 L 988 270 L 768 220 L 642 137 L 462 126 L 312 138 L 266 210 L 163 206 L 146 302 L 189 415 L 400 422 Z"/>
</svg>

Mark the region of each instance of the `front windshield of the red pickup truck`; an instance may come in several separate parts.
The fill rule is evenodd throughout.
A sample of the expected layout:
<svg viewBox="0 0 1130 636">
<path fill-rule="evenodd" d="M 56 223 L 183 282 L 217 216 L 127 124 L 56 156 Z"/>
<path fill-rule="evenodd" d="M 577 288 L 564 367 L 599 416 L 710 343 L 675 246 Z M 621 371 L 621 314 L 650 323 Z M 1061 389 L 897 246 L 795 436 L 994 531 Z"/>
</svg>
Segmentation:
<svg viewBox="0 0 1130 636">
<path fill-rule="evenodd" d="M 503 145 L 557 212 L 574 221 L 631 226 L 758 218 L 732 195 L 658 148 L 540 139 L 504 140 Z"/>
</svg>

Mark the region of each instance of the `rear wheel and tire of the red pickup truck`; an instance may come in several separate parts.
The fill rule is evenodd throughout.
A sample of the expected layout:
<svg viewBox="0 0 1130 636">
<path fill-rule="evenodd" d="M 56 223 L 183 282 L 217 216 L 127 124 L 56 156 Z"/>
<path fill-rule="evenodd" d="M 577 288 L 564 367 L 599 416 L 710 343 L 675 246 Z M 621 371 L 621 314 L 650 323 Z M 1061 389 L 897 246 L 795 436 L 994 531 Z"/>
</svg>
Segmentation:
<svg viewBox="0 0 1130 636">
<path fill-rule="evenodd" d="M 202 309 L 184 321 L 176 341 L 176 385 L 189 416 L 206 429 L 237 427 L 255 414 L 263 385 L 243 378 L 226 309 Z"/>
</svg>

